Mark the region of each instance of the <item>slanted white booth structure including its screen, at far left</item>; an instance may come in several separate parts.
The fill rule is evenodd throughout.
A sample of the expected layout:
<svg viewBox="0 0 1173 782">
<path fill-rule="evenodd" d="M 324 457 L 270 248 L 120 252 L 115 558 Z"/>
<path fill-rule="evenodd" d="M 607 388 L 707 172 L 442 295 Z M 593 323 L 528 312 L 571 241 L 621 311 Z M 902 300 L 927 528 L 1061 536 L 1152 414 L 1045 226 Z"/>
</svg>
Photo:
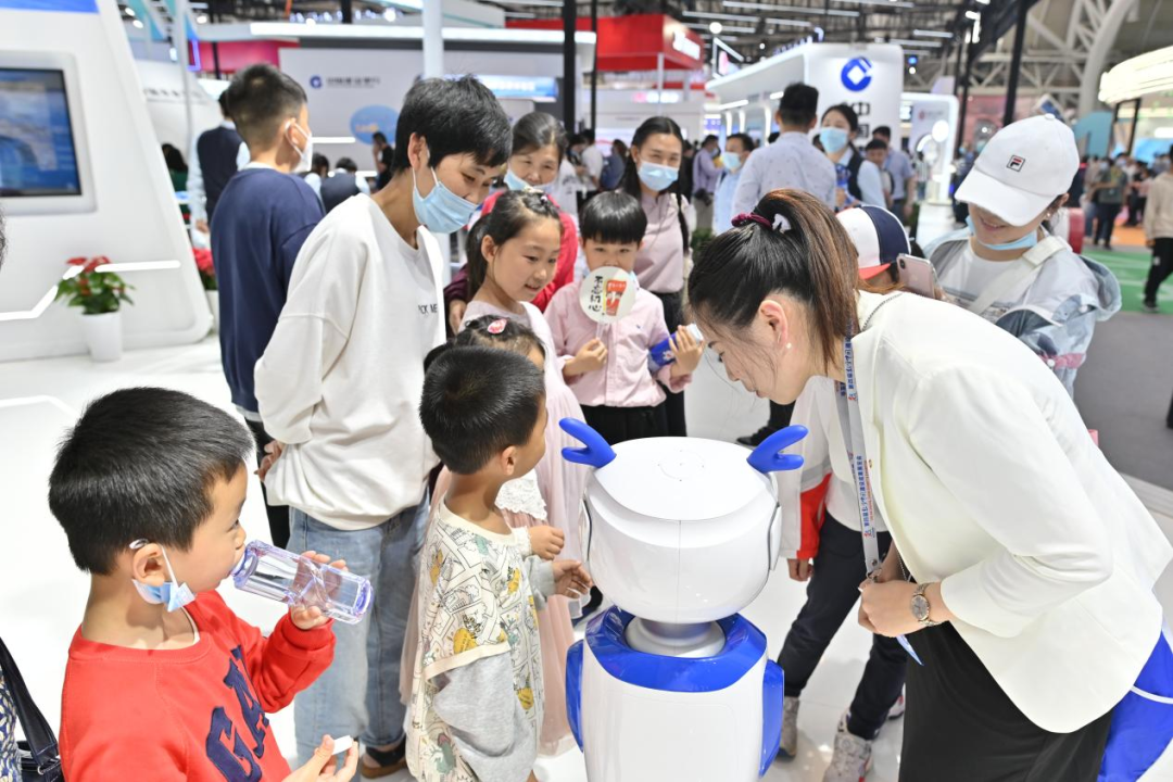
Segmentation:
<svg viewBox="0 0 1173 782">
<path fill-rule="evenodd" d="M 77 311 L 53 302 L 75 257 L 106 256 L 135 286 L 122 313 L 128 348 L 194 342 L 211 313 L 117 4 L 46 7 L 0 0 L 0 209 L 9 242 L 0 361 L 86 351 Z"/>
</svg>

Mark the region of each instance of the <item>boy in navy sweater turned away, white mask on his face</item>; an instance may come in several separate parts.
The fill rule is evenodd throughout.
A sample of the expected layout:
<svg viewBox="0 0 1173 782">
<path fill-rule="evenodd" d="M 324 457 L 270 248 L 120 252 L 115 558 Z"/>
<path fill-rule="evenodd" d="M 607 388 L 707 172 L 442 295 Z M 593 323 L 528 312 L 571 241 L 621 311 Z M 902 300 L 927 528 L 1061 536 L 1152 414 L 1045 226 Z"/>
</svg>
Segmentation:
<svg viewBox="0 0 1173 782">
<path fill-rule="evenodd" d="M 272 437 L 257 404 L 253 367 L 285 306 L 293 261 L 324 212 L 313 189 L 290 176 L 308 171 L 313 155 L 305 90 L 277 68 L 256 64 L 232 77 L 225 96 L 252 159 L 229 181 L 212 217 L 221 361 L 260 461 Z M 270 505 L 267 495 L 265 501 L 272 540 L 285 548 L 289 509 Z"/>
</svg>

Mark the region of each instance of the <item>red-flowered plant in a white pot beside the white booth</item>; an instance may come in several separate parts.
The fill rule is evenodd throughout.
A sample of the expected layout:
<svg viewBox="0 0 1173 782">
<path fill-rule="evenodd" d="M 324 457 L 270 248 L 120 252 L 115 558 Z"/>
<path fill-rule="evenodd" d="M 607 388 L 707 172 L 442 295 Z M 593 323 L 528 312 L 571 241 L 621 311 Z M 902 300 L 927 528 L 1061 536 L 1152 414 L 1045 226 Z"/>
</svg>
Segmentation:
<svg viewBox="0 0 1173 782">
<path fill-rule="evenodd" d="M 117 361 L 122 356 L 122 302 L 134 304 L 131 290 L 114 272 L 99 271 L 110 264 L 104 256 L 70 258 L 69 273 L 57 284 L 57 300 L 81 307 L 82 334 L 95 361 Z M 75 271 L 76 270 L 76 271 Z"/>
</svg>

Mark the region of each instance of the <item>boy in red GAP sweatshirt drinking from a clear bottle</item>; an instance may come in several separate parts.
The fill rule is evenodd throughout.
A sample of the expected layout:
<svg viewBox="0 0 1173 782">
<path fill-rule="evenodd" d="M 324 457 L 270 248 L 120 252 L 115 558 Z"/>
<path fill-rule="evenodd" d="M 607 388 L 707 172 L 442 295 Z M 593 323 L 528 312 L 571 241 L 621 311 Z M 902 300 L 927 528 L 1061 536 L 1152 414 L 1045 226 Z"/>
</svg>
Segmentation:
<svg viewBox="0 0 1173 782">
<path fill-rule="evenodd" d="M 264 638 L 216 592 L 244 551 L 252 449 L 226 413 L 163 388 L 94 401 L 61 444 L 49 508 L 90 573 L 61 699 L 70 782 L 353 776 L 358 747 L 335 769 L 328 736 L 291 774 L 265 716 L 330 666 L 330 621 L 292 608 Z"/>
</svg>

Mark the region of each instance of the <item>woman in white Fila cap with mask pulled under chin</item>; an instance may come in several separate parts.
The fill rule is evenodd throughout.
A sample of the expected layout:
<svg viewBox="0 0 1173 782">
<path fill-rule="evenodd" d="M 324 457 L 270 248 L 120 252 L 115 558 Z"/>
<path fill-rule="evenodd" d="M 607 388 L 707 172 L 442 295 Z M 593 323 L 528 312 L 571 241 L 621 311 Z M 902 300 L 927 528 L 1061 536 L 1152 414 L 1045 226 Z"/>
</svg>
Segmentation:
<svg viewBox="0 0 1173 782">
<path fill-rule="evenodd" d="M 1112 272 L 1046 226 L 1078 170 L 1076 137 L 1059 120 L 1006 125 L 957 189 L 969 227 L 927 247 L 944 292 L 1030 346 L 1069 394 L 1096 324 L 1120 310 Z"/>
</svg>

